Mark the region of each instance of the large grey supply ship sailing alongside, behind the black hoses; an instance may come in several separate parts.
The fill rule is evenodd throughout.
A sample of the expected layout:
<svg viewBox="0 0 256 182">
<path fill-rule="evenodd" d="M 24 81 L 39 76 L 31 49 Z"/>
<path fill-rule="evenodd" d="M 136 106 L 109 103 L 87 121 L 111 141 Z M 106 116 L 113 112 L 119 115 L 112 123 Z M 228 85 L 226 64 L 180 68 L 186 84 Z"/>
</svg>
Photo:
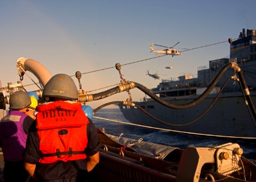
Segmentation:
<svg viewBox="0 0 256 182">
<path fill-rule="evenodd" d="M 243 29 L 239 38 L 229 39 L 229 43 L 230 58 L 215 59 L 209 61 L 208 66 L 198 67 L 196 78 L 182 75 L 162 79 L 156 88 L 151 89 L 152 93 L 171 104 L 190 103 L 204 93 L 222 67 L 235 62 L 243 71 L 247 91 L 252 103 L 256 104 L 256 30 Z M 170 109 L 147 95 L 133 102 L 162 123 L 138 107 L 119 104 L 119 108 L 134 124 L 196 135 L 256 139 L 255 121 L 236 76 L 233 69 L 227 70 L 204 101 L 188 109 Z M 231 80 L 226 83 L 228 78 Z"/>
</svg>

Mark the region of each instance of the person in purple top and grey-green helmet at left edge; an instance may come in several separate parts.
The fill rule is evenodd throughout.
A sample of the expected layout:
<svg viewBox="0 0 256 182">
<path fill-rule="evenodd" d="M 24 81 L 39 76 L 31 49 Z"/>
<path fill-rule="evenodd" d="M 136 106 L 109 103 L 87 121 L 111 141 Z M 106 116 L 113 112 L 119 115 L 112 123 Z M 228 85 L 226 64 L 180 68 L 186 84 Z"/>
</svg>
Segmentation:
<svg viewBox="0 0 256 182">
<path fill-rule="evenodd" d="M 0 121 L 0 147 L 4 154 L 4 181 L 26 181 L 29 177 L 24 168 L 24 151 L 27 133 L 34 122 L 26 115 L 31 104 L 26 92 L 16 91 L 10 95 L 10 111 Z"/>
</svg>

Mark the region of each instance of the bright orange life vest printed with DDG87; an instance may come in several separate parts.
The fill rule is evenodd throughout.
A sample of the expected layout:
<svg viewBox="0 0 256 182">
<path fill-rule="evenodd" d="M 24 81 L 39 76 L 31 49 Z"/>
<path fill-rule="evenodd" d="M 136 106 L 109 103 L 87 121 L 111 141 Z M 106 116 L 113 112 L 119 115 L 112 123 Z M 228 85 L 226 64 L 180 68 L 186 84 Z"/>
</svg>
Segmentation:
<svg viewBox="0 0 256 182">
<path fill-rule="evenodd" d="M 87 116 L 80 103 L 55 101 L 37 107 L 39 163 L 85 159 Z"/>
</svg>

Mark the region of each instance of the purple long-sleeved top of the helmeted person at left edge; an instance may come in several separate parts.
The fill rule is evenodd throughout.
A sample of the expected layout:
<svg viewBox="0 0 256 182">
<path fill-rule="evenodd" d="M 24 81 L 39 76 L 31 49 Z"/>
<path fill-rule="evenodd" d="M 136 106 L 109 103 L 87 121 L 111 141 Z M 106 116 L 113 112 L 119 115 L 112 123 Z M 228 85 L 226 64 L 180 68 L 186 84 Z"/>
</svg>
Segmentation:
<svg viewBox="0 0 256 182">
<path fill-rule="evenodd" d="M 0 147 L 4 153 L 4 160 L 24 160 L 27 132 L 24 130 L 24 120 L 30 124 L 34 120 L 30 116 L 18 110 L 11 110 L 8 115 L 0 121 Z"/>
</svg>

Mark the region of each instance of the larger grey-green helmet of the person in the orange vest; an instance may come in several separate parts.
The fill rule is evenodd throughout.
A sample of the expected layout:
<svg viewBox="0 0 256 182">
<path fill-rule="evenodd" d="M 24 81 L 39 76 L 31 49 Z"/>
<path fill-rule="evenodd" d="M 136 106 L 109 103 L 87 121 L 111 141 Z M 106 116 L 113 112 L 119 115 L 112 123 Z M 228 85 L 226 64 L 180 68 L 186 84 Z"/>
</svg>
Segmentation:
<svg viewBox="0 0 256 182">
<path fill-rule="evenodd" d="M 74 80 L 66 74 L 54 75 L 44 86 L 43 97 L 77 100 L 78 93 L 76 84 Z"/>
</svg>

